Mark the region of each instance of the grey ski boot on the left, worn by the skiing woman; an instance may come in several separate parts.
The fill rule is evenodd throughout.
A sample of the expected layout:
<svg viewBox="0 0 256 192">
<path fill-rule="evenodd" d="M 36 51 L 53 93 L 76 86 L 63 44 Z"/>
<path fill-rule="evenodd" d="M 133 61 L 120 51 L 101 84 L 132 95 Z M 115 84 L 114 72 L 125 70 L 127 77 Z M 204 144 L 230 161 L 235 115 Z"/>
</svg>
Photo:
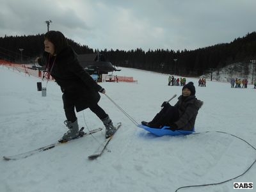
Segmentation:
<svg viewBox="0 0 256 192">
<path fill-rule="evenodd" d="M 77 124 L 77 119 L 75 122 L 64 121 L 64 124 L 68 127 L 68 131 L 63 134 L 62 138 L 59 140 L 60 143 L 67 142 L 76 138 L 79 134 L 79 128 Z"/>
</svg>

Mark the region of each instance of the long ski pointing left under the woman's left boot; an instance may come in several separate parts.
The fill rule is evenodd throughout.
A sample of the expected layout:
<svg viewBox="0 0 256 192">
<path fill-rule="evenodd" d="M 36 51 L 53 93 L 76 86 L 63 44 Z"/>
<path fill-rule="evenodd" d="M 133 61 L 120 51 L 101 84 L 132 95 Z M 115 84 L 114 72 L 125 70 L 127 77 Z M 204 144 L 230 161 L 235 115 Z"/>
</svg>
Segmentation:
<svg viewBox="0 0 256 192">
<path fill-rule="evenodd" d="M 83 129 L 84 127 L 82 127 L 80 130 L 79 130 L 79 135 L 76 137 L 76 138 L 73 138 L 72 140 L 76 140 L 78 138 L 82 138 L 83 136 L 88 136 L 89 134 L 93 134 L 95 132 L 99 132 L 99 131 L 102 131 L 102 128 L 98 128 L 98 129 L 93 129 L 93 130 L 90 130 L 89 132 L 83 132 Z M 63 142 L 63 143 L 69 143 L 70 141 L 72 140 L 69 140 L 67 142 Z M 40 148 L 36 148 L 34 150 L 30 150 L 28 152 L 24 152 L 22 154 L 17 154 L 17 155 L 14 155 L 14 156 L 3 156 L 3 159 L 6 160 L 6 161 L 9 161 L 9 160 L 18 160 L 18 159 L 24 159 L 26 157 L 29 157 L 29 156 L 33 156 L 35 154 L 38 154 L 39 152 L 44 152 L 45 150 L 49 150 L 51 148 L 54 148 L 58 145 L 61 145 L 63 143 L 60 143 L 60 142 L 56 142 L 56 143 L 52 143 L 51 145 L 45 145 L 44 147 L 40 147 Z"/>
</svg>

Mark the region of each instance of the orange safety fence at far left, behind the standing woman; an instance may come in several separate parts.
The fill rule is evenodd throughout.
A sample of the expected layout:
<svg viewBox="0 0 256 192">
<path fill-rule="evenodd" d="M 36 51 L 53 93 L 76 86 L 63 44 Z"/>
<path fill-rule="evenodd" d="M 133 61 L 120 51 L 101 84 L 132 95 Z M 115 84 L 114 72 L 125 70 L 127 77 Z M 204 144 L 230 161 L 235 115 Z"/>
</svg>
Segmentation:
<svg viewBox="0 0 256 192">
<path fill-rule="evenodd" d="M 5 60 L 0 60 L 0 65 L 3 65 L 4 67 L 12 68 L 13 70 L 17 70 L 19 72 L 24 72 L 24 74 L 28 74 L 28 76 L 42 78 L 42 76 L 45 75 L 45 79 L 54 80 L 53 77 L 50 76 L 50 74 L 47 74 L 47 72 L 44 74 L 44 71 L 33 69 L 32 68 L 33 65 L 16 64 L 16 63 L 12 63 L 10 61 L 5 61 Z"/>
</svg>

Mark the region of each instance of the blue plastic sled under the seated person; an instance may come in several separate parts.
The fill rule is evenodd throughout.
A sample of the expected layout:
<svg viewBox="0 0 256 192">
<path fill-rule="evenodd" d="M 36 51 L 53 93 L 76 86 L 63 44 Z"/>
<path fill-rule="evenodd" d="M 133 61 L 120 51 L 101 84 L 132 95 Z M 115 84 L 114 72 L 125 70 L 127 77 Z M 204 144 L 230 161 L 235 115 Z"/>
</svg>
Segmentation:
<svg viewBox="0 0 256 192">
<path fill-rule="evenodd" d="M 171 136 L 177 136 L 180 134 L 186 135 L 186 134 L 192 134 L 193 132 L 195 132 L 195 129 L 193 131 L 182 131 L 182 130 L 177 130 L 177 131 L 172 131 L 168 128 L 168 126 L 164 126 L 161 129 L 157 129 L 157 128 L 151 128 L 151 127 L 147 127 L 145 125 L 138 125 L 138 127 L 145 129 L 148 132 L 151 132 L 153 134 L 155 134 L 156 136 L 164 136 L 164 135 L 171 135 Z"/>
</svg>

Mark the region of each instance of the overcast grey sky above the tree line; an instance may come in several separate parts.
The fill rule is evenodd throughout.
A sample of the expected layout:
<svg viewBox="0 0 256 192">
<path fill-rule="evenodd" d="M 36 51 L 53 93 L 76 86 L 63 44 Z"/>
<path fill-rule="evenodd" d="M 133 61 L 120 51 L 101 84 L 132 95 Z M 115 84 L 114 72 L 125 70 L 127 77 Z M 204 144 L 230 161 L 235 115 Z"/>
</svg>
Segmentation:
<svg viewBox="0 0 256 192">
<path fill-rule="evenodd" d="M 0 36 L 43 34 L 52 20 L 50 30 L 99 50 L 193 50 L 256 31 L 255 0 L 0 0 L 0 6 Z"/>
</svg>

